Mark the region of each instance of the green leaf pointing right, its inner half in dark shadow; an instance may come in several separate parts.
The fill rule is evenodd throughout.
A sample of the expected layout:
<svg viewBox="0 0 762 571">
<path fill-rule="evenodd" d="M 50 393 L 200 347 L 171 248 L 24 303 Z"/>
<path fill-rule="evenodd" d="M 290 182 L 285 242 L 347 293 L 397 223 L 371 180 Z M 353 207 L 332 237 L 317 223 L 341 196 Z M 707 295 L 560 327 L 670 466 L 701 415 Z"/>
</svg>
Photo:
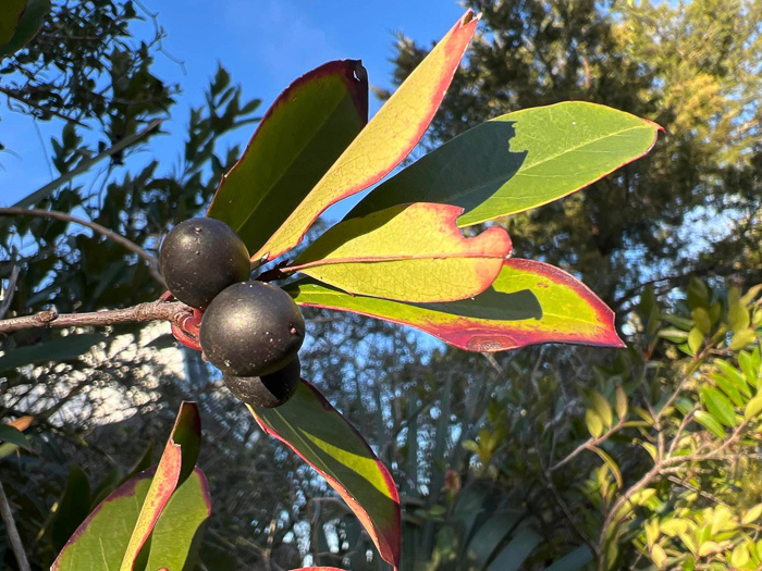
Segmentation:
<svg viewBox="0 0 762 571">
<path fill-rule="evenodd" d="M 406 202 L 466 209 L 470 226 L 557 200 L 639 157 L 659 126 L 570 101 L 493 119 L 442 145 L 376 188 L 349 214 Z"/>
</svg>

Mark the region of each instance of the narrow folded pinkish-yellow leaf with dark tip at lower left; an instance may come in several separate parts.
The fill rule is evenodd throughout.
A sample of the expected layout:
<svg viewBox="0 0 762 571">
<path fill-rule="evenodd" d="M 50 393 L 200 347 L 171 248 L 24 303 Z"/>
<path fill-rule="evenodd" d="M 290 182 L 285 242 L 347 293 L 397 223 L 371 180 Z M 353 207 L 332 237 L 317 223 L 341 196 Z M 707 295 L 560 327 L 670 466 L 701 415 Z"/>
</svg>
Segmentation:
<svg viewBox="0 0 762 571">
<path fill-rule="evenodd" d="M 172 494 L 190 475 L 201 446 L 201 418 L 195 402 L 183 401 L 143 501 L 120 571 L 131 571 Z"/>
</svg>

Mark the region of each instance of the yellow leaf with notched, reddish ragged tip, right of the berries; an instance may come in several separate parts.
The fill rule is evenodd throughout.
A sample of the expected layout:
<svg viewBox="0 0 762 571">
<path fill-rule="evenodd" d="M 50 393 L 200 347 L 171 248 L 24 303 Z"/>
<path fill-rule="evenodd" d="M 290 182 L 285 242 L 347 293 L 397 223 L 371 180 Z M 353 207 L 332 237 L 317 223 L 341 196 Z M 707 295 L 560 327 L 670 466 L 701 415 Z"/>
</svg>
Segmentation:
<svg viewBox="0 0 762 571">
<path fill-rule="evenodd" d="M 419 202 L 339 223 L 287 270 L 385 299 L 441 302 L 476 296 L 500 274 L 511 239 L 497 227 L 464 237 L 455 225 L 462 211 Z"/>
</svg>

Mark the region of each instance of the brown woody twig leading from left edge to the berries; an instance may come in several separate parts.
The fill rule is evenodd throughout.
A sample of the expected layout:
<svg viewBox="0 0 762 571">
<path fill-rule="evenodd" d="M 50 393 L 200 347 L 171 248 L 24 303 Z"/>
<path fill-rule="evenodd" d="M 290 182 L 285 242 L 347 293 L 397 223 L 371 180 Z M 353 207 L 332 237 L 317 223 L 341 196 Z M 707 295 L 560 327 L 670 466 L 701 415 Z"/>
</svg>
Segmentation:
<svg viewBox="0 0 762 571">
<path fill-rule="evenodd" d="M 169 321 L 179 325 L 193 310 L 180 301 L 149 301 L 131 308 L 110 309 L 89 313 L 62 313 L 49 309 L 34 315 L 0 321 L 0 333 L 12 333 L 34 327 L 85 327 L 115 325 L 118 323 L 143 323 L 147 321 Z"/>
</svg>

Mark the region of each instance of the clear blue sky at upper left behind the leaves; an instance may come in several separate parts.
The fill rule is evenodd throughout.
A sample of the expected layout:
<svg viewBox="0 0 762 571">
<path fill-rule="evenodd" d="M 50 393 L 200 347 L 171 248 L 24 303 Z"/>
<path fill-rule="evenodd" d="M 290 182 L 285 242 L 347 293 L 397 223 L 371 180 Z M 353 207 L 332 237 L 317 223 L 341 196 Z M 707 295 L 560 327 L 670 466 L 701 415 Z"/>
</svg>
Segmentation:
<svg viewBox="0 0 762 571">
<path fill-rule="evenodd" d="M 420 42 L 441 38 L 464 12 L 452 0 L 309 1 L 309 0 L 143 0 L 168 38 L 157 73 L 180 84 L 183 92 L 164 131 L 171 137 L 155 139 L 149 152 L 171 161 L 182 149 L 188 109 L 202 102 L 204 89 L 218 62 L 244 88 L 245 98 L 261 98 L 263 113 L 278 94 L 303 73 L 334 59 L 361 59 L 371 85 L 391 87 L 394 34 L 402 32 Z M 146 24 L 148 25 L 148 24 Z M 380 103 L 372 100 L 371 113 Z M 0 206 L 9 206 L 49 182 L 53 174 L 45 158 L 51 135 L 60 125 L 34 122 L 0 112 L 0 141 L 13 153 L 0 154 Z M 38 134 L 37 128 L 40 133 Z M 245 142 L 253 127 L 233 139 Z"/>
</svg>

